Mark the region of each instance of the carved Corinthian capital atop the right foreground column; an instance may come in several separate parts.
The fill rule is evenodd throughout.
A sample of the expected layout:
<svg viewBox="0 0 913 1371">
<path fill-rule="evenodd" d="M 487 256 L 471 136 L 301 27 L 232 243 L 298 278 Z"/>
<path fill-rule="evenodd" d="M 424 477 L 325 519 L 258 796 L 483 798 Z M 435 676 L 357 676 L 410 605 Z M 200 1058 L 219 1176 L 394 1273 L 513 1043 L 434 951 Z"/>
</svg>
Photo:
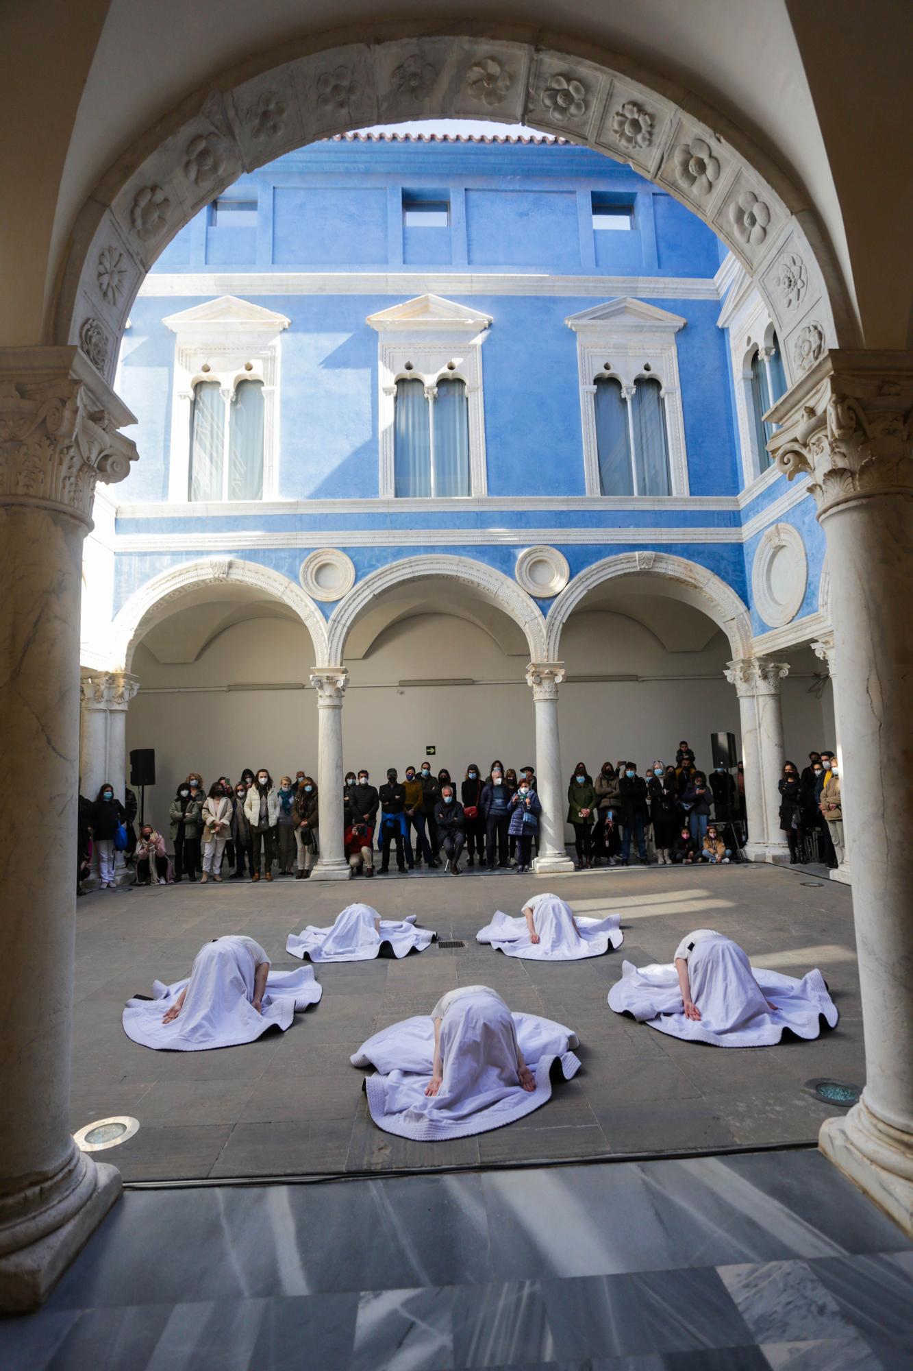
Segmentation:
<svg viewBox="0 0 913 1371">
<path fill-rule="evenodd" d="M 913 352 L 825 352 L 769 417 L 770 454 L 790 480 L 809 473 L 818 517 L 913 494 Z"/>
</svg>

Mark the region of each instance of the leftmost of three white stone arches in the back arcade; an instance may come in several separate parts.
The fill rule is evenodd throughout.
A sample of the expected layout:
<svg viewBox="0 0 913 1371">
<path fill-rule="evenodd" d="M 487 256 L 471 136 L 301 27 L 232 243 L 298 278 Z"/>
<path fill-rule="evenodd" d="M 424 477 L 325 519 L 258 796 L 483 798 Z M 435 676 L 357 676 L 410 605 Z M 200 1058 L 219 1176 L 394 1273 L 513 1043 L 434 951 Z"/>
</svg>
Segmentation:
<svg viewBox="0 0 913 1371">
<path fill-rule="evenodd" d="M 133 651 L 143 636 L 154 624 L 166 617 L 180 602 L 193 590 L 204 585 L 222 585 L 225 583 L 249 585 L 274 599 L 282 600 L 299 616 L 314 644 L 314 657 L 318 662 L 326 657 L 326 621 L 319 609 L 304 591 L 289 581 L 287 576 L 260 566 L 258 562 L 245 562 L 234 557 L 207 557 L 197 562 L 184 562 L 173 566 L 160 576 L 145 581 L 118 610 L 111 625 L 111 669 L 129 672 L 133 662 Z"/>
</svg>

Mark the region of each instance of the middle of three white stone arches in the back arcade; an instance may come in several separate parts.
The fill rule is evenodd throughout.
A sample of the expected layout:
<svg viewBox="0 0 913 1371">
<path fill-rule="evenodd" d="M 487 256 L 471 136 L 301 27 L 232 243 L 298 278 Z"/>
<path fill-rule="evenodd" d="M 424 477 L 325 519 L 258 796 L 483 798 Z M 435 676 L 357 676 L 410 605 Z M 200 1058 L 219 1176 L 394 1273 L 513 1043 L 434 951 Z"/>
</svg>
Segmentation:
<svg viewBox="0 0 913 1371">
<path fill-rule="evenodd" d="M 544 661 L 546 622 L 536 602 L 503 572 L 469 557 L 406 557 L 381 566 L 359 581 L 334 609 L 328 625 L 328 664 L 341 666 L 345 642 L 358 616 L 393 585 L 407 581 L 444 577 L 459 581 L 495 603 L 522 629 L 531 661 Z"/>
</svg>

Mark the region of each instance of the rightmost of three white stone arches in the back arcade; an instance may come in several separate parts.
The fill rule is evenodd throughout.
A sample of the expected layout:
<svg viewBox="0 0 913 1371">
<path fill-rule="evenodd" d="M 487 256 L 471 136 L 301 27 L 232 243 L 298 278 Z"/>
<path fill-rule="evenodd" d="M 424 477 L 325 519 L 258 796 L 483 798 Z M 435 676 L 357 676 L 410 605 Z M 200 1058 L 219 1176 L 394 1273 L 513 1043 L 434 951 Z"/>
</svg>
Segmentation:
<svg viewBox="0 0 913 1371">
<path fill-rule="evenodd" d="M 555 598 L 546 621 L 548 659 L 561 658 L 563 627 L 589 591 L 616 577 L 637 574 L 655 577 L 661 585 L 668 583 L 670 596 L 703 610 L 729 639 L 733 658 L 751 657 L 748 610 L 724 580 L 705 566 L 669 553 L 620 553 L 580 572 Z"/>
</svg>

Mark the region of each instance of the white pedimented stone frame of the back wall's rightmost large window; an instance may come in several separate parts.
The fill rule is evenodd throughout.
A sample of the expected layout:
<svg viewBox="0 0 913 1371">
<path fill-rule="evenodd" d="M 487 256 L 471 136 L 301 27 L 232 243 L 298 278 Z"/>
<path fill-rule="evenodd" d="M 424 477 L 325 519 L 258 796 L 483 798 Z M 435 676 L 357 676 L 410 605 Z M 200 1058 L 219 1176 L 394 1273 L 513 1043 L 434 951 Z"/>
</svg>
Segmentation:
<svg viewBox="0 0 913 1371">
<path fill-rule="evenodd" d="M 632 480 L 636 488 L 636 452 L 631 400 L 639 380 L 659 381 L 669 444 L 669 494 L 690 495 L 688 451 L 681 409 L 679 350 L 676 333 L 687 319 L 643 300 L 622 298 L 599 304 L 565 319 L 577 335 L 577 370 L 580 377 L 580 422 L 583 429 L 584 480 L 587 495 L 600 496 L 599 444 L 596 441 L 596 380 L 618 381 L 628 406 Z M 606 370 L 606 362 L 610 370 Z M 642 495 L 635 498 L 661 499 Z"/>
</svg>

